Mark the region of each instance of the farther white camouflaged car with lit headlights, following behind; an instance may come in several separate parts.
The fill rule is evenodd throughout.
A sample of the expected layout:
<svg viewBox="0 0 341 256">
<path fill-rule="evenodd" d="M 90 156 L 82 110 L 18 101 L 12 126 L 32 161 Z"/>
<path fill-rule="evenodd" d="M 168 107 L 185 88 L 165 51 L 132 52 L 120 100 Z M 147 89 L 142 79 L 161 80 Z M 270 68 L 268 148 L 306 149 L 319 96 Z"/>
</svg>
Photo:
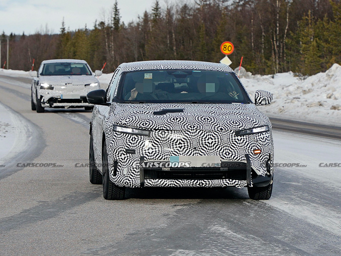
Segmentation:
<svg viewBox="0 0 341 256">
<path fill-rule="evenodd" d="M 100 88 L 96 76 L 102 72 L 91 71 L 84 60 L 44 60 L 37 71 L 31 71 L 31 109 L 38 113 L 45 107 L 84 107 L 92 109 L 86 94 Z"/>
</svg>

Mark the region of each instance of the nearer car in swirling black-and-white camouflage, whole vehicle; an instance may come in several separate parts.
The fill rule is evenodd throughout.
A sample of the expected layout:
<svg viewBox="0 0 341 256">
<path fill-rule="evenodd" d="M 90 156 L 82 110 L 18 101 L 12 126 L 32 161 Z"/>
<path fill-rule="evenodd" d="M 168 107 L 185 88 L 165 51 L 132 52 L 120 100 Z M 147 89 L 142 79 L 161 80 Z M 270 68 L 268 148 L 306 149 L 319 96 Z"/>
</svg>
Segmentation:
<svg viewBox="0 0 341 256">
<path fill-rule="evenodd" d="M 247 187 L 269 199 L 274 148 L 269 118 L 225 64 L 195 61 L 123 63 L 107 91 L 89 92 L 90 182 L 105 199 L 125 188 Z"/>
</svg>

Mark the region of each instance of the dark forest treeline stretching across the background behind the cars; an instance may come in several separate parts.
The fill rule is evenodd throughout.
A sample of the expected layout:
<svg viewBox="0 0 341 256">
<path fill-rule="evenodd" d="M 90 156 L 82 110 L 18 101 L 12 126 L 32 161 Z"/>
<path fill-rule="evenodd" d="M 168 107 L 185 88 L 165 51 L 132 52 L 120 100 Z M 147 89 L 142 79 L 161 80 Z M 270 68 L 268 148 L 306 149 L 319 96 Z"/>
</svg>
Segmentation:
<svg viewBox="0 0 341 256">
<path fill-rule="evenodd" d="M 312 75 L 341 63 L 340 0 L 193 0 L 160 8 L 155 1 L 136 21 L 121 21 L 117 0 L 108 20 L 92 29 L 60 34 L 9 35 L 9 68 L 35 69 L 46 59 L 86 60 L 93 70 L 113 72 L 122 62 L 200 60 L 219 62 L 220 45 L 231 41 L 232 68 L 253 74 L 293 71 Z M 7 35 L 2 37 L 2 63 Z"/>
</svg>

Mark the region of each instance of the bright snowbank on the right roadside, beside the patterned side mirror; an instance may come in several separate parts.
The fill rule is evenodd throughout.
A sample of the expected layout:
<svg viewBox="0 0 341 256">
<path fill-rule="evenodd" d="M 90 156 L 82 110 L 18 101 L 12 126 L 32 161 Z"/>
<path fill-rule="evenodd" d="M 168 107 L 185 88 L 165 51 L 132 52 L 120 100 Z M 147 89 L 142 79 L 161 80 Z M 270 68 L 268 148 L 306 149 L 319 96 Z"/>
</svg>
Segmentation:
<svg viewBox="0 0 341 256">
<path fill-rule="evenodd" d="M 306 79 L 292 72 L 241 77 L 251 97 L 258 89 L 273 93 L 273 101 L 259 109 L 272 117 L 341 126 L 341 66 Z"/>
</svg>

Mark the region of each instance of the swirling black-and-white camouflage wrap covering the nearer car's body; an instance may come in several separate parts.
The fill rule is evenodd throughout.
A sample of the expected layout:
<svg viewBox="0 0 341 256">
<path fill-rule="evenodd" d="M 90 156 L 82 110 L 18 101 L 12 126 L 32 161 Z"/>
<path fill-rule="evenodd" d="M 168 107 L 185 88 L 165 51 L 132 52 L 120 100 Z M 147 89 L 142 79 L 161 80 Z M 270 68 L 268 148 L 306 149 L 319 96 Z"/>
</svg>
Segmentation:
<svg viewBox="0 0 341 256">
<path fill-rule="evenodd" d="M 121 72 L 153 69 L 194 69 L 233 72 L 224 64 L 187 61 L 150 61 L 126 63 Z M 104 110 L 104 108 L 107 108 Z M 182 108 L 184 112 L 154 115 L 154 111 Z M 144 161 L 169 161 L 170 156 L 220 156 L 224 162 L 244 162 L 250 156 L 252 169 L 265 176 L 270 159 L 273 174 L 273 140 L 269 118 L 250 104 L 198 103 L 112 103 L 110 107 L 95 106 L 92 119 L 94 155 L 101 170 L 102 139 L 105 136 L 110 180 L 117 186 L 140 187 L 140 157 Z M 114 125 L 150 131 L 138 136 L 114 131 Z M 264 133 L 236 136 L 239 130 L 268 125 Z M 102 126 L 102 127 L 99 127 Z M 102 131 L 102 132 L 101 132 Z M 104 134 L 104 135 L 103 135 Z M 126 149 L 135 154 L 126 153 Z M 260 149 L 261 154 L 254 154 Z M 114 175 L 114 162 L 117 161 Z M 246 181 L 146 179 L 147 187 L 245 187 Z"/>
</svg>

